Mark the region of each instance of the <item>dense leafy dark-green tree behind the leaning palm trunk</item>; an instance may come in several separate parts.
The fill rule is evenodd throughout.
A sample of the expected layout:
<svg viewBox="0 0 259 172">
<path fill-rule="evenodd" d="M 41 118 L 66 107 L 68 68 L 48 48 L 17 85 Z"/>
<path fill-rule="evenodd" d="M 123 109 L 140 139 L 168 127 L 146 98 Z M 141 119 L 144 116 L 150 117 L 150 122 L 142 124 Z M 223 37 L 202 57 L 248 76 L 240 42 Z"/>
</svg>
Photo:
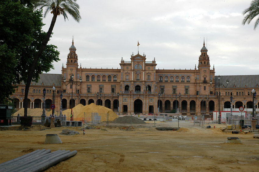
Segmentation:
<svg viewBox="0 0 259 172">
<path fill-rule="evenodd" d="M 8 9 L 8 10 L 7 10 Z M 14 93 L 13 84 L 27 79 L 29 66 L 37 49 L 46 36 L 41 30 L 42 12 L 33 9 L 28 1 L 3 0 L 0 3 L 0 103 L 8 104 Z M 53 68 L 52 62 L 58 61 L 59 52 L 56 46 L 47 45 L 33 80 L 37 81 L 42 72 Z M 43 63 L 44 61 L 44 63 Z"/>
</svg>

